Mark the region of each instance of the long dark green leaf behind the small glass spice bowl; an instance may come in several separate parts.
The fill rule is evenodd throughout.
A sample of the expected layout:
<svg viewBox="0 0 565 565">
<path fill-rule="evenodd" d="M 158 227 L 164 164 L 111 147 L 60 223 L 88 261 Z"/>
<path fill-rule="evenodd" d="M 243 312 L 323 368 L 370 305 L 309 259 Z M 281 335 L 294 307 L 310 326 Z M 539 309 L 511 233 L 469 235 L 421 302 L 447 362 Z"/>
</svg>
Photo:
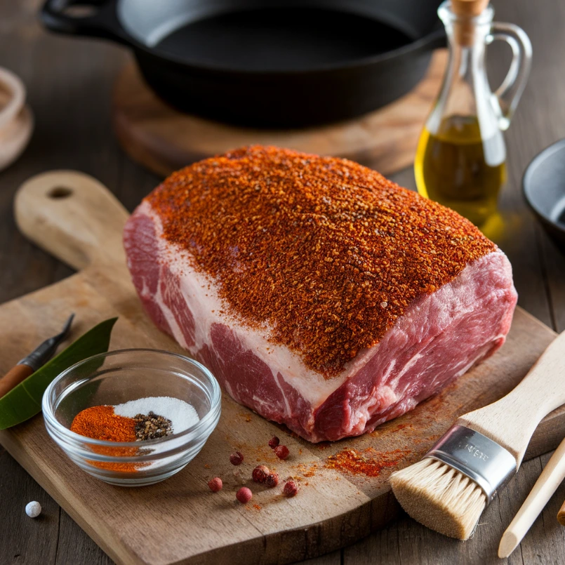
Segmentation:
<svg viewBox="0 0 565 565">
<path fill-rule="evenodd" d="M 71 365 L 108 350 L 117 318 L 102 321 L 51 361 L 0 398 L 0 430 L 29 420 L 41 412 L 41 399 L 51 381 Z"/>
</svg>

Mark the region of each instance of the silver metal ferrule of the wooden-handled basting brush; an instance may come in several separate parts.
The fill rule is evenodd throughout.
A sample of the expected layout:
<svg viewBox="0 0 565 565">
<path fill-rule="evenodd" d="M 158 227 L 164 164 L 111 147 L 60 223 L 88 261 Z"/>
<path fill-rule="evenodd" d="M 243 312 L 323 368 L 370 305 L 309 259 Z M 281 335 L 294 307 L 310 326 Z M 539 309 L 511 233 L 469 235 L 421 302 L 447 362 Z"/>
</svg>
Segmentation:
<svg viewBox="0 0 565 565">
<path fill-rule="evenodd" d="M 517 471 L 512 453 L 465 426 L 453 426 L 425 455 L 437 459 L 476 482 L 487 504 Z"/>
</svg>

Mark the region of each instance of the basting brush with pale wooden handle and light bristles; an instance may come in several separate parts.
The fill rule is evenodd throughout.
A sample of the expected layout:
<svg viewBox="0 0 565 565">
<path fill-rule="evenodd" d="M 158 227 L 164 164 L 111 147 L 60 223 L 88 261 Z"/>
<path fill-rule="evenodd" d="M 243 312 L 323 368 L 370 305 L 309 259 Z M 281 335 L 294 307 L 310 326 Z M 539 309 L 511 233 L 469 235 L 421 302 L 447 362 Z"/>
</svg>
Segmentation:
<svg viewBox="0 0 565 565">
<path fill-rule="evenodd" d="M 466 540 L 517 472 L 540 420 L 565 403 L 565 332 L 502 399 L 461 416 L 423 460 L 390 477 L 392 491 L 424 526 Z"/>
</svg>

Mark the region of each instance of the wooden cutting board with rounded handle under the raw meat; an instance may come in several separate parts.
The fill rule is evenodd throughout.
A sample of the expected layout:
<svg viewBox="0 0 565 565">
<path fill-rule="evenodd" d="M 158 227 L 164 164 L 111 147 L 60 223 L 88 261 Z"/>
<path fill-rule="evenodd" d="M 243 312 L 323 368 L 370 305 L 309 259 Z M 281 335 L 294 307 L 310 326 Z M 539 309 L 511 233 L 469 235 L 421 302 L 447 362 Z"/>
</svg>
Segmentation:
<svg viewBox="0 0 565 565">
<path fill-rule="evenodd" d="M 77 313 L 72 338 L 119 314 L 112 349 L 179 351 L 140 308 L 121 246 L 127 213 L 98 181 L 71 171 L 40 175 L 18 192 L 15 215 L 29 239 L 79 273 L 0 306 L 1 371 L 56 333 L 69 312 Z M 1 432 L 0 441 L 118 564 L 283 564 L 352 543 L 393 519 L 390 472 L 423 456 L 460 414 L 511 390 L 554 335 L 518 309 L 494 357 L 411 413 L 334 444 L 309 444 L 225 395 L 220 423 L 199 456 L 153 486 L 120 488 L 91 478 L 53 444 L 41 416 Z M 274 434 L 290 448 L 285 462 L 267 446 Z M 538 428 L 529 456 L 554 448 L 564 435 L 560 408 Z M 235 449 L 246 458 L 241 467 L 228 461 Z M 371 476 L 347 471 L 348 461 L 365 463 Z M 258 463 L 293 475 L 298 496 L 251 484 Z M 214 476 L 224 481 L 220 493 L 206 486 Z M 246 506 L 234 498 L 241 484 L 254 491 Z"/>
</svg>

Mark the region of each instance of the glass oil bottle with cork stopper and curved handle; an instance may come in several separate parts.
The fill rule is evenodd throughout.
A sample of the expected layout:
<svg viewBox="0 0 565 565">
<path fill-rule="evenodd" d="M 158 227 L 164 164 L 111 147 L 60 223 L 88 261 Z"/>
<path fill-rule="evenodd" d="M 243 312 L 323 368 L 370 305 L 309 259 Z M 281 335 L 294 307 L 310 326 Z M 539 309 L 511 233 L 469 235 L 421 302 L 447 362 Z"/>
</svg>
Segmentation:
<svg viewBox="0 0 565 565">
<path fill-rule="evenodd" d="M 416 184 L 479 227 L 496 212 L 506 180 L 503 137 L 529 74 L 531 44 L 522 29 L 493 22 L 488 0 L 447 0 L 438 9 L 449 58 L 439 96 L 420 135 Z M 486 45 L 512 48 L 510 70 L 495 93 L 486 78 Z"/>
</svg>

